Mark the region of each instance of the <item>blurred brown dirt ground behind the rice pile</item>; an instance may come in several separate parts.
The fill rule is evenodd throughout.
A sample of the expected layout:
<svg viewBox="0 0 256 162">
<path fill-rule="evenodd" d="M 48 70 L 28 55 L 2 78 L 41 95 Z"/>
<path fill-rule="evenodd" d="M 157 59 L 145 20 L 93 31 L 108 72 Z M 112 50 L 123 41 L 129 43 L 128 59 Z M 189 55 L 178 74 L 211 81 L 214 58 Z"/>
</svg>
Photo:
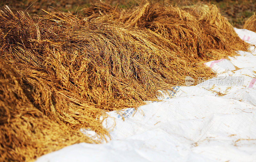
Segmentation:
<svg viewBox="0 0 256 162">
<path fill-rule="evenodd" d="M 50 11 L 70 11 L 74 14 L 82 14 L 81 9 L 90 6 L 95 2 L 96 1 L 93 0 L 2 0 L 0 1 L 0 8 L 8 5 L 10 8 L 15 8 L 16 10 L 26 10 L 30 14 L 39 14 L 42 12 L 41 9 Z M 118 5 L 120 8 L 129 8 L 132 5 L 138 4 L 138 1 L 136 0 L 105 0 L 105 2 L 114 6 Z M 158 0 L 157 2 L 170 3 L 181 7 L 184 5 L 193 5 L 202 1 Z M 203 0 L 203 2 L 216 4 L 221 9 L 221 13 L 237 28 L 242 28 L 244 21 L 256 12 L 256 0 Z"/>
</svg>

